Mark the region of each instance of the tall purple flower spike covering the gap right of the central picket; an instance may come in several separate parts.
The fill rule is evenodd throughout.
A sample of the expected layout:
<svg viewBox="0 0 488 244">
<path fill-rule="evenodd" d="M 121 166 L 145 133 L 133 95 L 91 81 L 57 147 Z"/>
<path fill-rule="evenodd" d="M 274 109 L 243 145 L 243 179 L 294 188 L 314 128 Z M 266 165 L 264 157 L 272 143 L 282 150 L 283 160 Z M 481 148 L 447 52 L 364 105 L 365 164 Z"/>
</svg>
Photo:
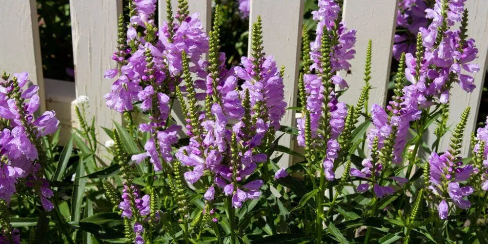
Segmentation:
<svg viewBox="0 0 488 244">
<path fill-rule="evenodd" d="M 309 125 L 305 114 L 297 119 L 300 146 L 306 141 L 317 142 L 325 140 L 323 167 L 325 177 L 332 181 L 335 178 L 334 160 L 338 158 L 340 150 L 337 138 L 344 130 L 347 115 L 346 104 L 338 102 L 334 86 L 344 89 L 346 81 L 340 76 L 333 75 L 339 70 L 348 70 L 348 60 L 354 58 L 352 49 L 356 42 L 356 31 L 347 31 L 344 22 L 339 22 L 340 6 L 335 0 L 320 0 L 319 10 L 313 11 L 313 19 L 318 20 L 315 41 L 310 43 L 310 58 L 313 63 L 310 71 L 316 74 L 304 75 L 304 91 L 306 104 L 303 113 L 309 115 Z M 305 102 L 305 101 L 304 101 Z M 306 128 L 309 126 L 310 138 L 306 138 Z M 313 144 L 313 143 L 312 143 Z"/>
</svg>

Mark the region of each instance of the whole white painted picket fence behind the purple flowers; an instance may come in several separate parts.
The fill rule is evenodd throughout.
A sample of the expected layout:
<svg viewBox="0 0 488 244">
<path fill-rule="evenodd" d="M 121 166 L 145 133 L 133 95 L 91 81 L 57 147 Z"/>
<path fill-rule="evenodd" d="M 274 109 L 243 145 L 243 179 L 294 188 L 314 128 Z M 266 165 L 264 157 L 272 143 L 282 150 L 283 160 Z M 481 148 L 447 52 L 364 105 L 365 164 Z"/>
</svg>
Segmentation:
<svg viewBox="0 0 488 244">
<path fill-rule="evenodd" d="M 173 6 L 177 0 L 172 0 Z M 189 0 L 190 12 L 199 12 L 203 26 L 211 25 L 211 0 Z M 302 20 L 305 0 L 251 0 L 249 20 L 258 15 L 263 19 L 264 51 L 275 56 L 278 65 L 285 65 L 285 100 L 289 106 L 296 105 L 297 78 L 300 64 Z M 70 0 L 73 53 L 76 82 L 43 79 L 37 10 L 35 0 L 0 0 L 0 69 L 9 72 L 27 71 L 30 79 L 40 86 L 41 109 L 55 110 L 61 120 L 61 139 L 66 140 L 70 128 L 76 125 L 73 107 L 75 98 L 89 97 L 91 115 L 96 124 L 111 128 L 112 121 L 121 121 L 121 116 L 105 106 L 103 95 L 110 90 L 111 82 L 103 79 L 103 73 L 115 67 L 110 59 L 117 39 L 117 19 L 122 13 L 122 0 Z M 349 90 L 341 99 L 355 103 L 363 85 L 363 67 L 366 45 L 372 40 L 372 80 L 374 87 L 368 103 L 385 104 L 387 83 L 390 74 L 391 50 L 395 32 L 398 0 L 344 0 L 343 18 L 349 29 L 357 30 L 356 58 L 351 61 L 352 74 L 346 76 Z M 468 129 L 474 129 L 480 106 L 481 87 L 488 58 L 488 1 L 468 0 L 468 35 L 476 40 L 479 48 L 481 71 L 475 75 L 478 87 L 467 94 L 455 85 L 452 91 L 449 124 L 457 121 L 466 106 L 472 114 Z M 159 1 L 159 20 L 166 17 L 165 1 Z M 160 23 L 161 24 L 161 23 Z M 251 24 L 249 25 L 251 26 Z M 345 75 L 345 74 L 343 74 Z M 283 124 L 295 125 L 295 113 L 287 110 Z M 468 142 L 469 134 L 465 135 Z M 109 138 L 100 133 L 101 142 Z M 293 146 L 291 137 L 281 144 Z M 469 143 L 464 143 L 468 145 Z M 291 159 L 284 159 L 287 164 Z"/>
</svg>

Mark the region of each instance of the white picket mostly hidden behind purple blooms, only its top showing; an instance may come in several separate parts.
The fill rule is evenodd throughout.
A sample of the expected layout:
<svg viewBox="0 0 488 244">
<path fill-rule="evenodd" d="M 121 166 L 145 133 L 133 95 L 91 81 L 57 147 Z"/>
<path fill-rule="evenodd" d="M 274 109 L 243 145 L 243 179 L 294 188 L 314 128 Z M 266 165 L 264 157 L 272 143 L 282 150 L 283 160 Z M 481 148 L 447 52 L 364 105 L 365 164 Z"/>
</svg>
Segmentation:
<svg viewBox="0 0 488 244">
<path fill-rule="evenodd" d="M 166 0 L 158 1 L 159 7 L 159 26 L 163 26 L 163 21 L 166 21 Z M 171 7 L 173 9 L 173 16 L 176 15 L 178 9 L 178 0 L 171 0 Z M 205 31 L 210 30 L 212 26 L 212 0 L 190 0 L 188 1 L 188 10 L 190 14 L 200 13 L 199 19 L 205 28 Z"/>
</svg>

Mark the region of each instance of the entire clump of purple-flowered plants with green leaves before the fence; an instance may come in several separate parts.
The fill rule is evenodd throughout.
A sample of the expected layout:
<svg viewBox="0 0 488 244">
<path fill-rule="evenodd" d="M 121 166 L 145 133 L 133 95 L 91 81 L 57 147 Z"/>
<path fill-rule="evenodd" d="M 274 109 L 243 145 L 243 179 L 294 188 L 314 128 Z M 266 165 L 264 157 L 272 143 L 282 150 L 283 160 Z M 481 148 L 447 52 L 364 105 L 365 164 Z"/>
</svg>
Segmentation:
<svg viewBox="0 0 488 244">
<path fill-rule="evenodd" d="M 361 34 L 341 20 L 342 1 L 319 0 L 300 107 L 285 102 L 261 17 L 249 55 L 228 67 L 222 7 L 205 33 L 187 0 L 171 2 L 162 26 L 156 0 L 130 0 L 130 21 L 120 17 L 117 68 L 105 72 L 106 105 L 123 118 L 113 130 L 95 128 L 80 98 L 58 151 L 60 122 L 37 112 L 38 87 L 1 76 L 0 243 L 488 242 L 488 125 L 463 142 L 470 108 L 447 124 L 451 88 L 472 92 L 480 69 L 465 0 L 400 2 L 386 106 L 368 104 L 371 41 L 361 96 L 341 102 L 338 72 Z M 239 4 L 248 18 L 249 1 Z M 280 124 L 286 109 L 300 112 L 296 128 Z M 280 145 L 285 134 L 303 155 Z M 287 154 L 298 162 L 278 166 Z"/>
</svg>

